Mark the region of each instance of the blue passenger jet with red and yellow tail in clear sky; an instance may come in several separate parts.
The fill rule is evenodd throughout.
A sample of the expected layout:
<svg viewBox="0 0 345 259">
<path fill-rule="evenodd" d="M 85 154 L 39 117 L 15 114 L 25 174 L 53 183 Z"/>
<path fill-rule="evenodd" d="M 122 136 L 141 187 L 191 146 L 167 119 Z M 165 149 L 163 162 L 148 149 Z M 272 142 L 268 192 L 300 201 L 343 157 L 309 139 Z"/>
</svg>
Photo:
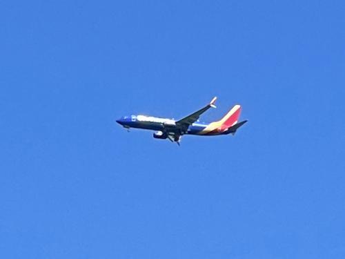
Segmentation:
<svg viewBox="0 0 345 259">
<path fill-rule="evenodd" d="M 213 136 L 213 135 L 235 135 L 237 129 L 245 124 L 248 120 L 238 122 L 239 114 L 241 113 L 241 106 L 238 104 L 226 113 L 217 122 L 211 122 L 205 124 L 199 122 L 199 117 L 202 113 L 206 112 L 209 108 L 217 108 L 215 101 L 217 97 L 214 97 L 209 104 L 201 108 L 199 111 L 192 113 L 183 119 L 166 119 L 160 117 L 152 117 L 146 115 L 130 115 L 117 119 L 117 123 L 127 128 L 143 128 L 152 131 L 153 137 L 161 140 L 170 140 L 180 144 L 182 135 L 201 135 L 201 136 Z"/>
</svg>

